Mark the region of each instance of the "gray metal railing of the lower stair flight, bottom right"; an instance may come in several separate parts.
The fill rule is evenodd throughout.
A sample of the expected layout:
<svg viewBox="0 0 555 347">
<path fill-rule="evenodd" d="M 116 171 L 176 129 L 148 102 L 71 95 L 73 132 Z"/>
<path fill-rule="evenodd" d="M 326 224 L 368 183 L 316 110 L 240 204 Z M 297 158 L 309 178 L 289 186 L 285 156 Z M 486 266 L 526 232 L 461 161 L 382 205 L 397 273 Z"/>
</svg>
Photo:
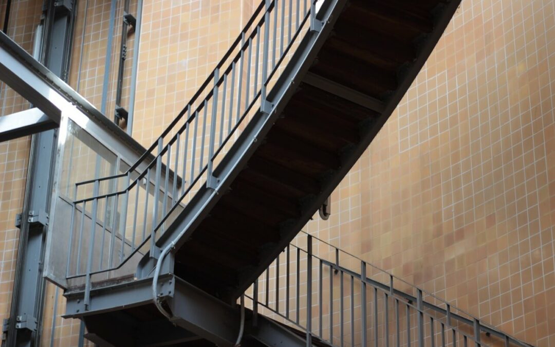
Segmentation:
<svg viewBox="0 0 555 347">
<path fill-rule="evenodd" d="M 531 346 L 305 232 L 296 241 L 245 297 L 255 316 L 305 331 L 307 346 Z"/>
</svg>

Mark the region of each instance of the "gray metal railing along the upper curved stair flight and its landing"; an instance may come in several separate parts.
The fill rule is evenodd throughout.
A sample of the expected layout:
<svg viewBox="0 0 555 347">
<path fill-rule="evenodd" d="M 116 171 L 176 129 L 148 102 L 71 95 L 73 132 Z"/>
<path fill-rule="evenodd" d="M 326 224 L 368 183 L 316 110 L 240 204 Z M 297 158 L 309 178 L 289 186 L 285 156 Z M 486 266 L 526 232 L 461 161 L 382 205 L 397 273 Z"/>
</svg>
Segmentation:
<svg viewBox="0 0 555 347">
<path fill-rule="evenodd" d="M 191 195 L 204 184 L 216 187 L 215 165 L 250 117 L 259 109 L 269 113 L 267 89 L 315 25 L 315 13 L 316 1 L 261 2 L 198 92 L 137 162 L 123 173 L 75 184 L 66 277 L 74 285 L 84 278 L 85 307 L 91 281 L 122 275 L 118 270 L 133 257 L 157 257 L 157 237 Z"/>
</svg>

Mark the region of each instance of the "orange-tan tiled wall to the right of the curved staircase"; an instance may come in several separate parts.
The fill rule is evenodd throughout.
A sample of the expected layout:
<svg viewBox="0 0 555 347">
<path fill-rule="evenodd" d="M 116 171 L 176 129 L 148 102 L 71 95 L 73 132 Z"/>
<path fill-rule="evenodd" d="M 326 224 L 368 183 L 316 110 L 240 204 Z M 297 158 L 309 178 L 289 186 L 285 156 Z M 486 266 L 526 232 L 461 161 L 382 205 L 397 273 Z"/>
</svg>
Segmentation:
<svg viewBox="0 0 555 347">
<path fill-rule="evenodd" d="M 463 0 L 306 230 L 555 346 L 555 2 Z"/>
</svg>

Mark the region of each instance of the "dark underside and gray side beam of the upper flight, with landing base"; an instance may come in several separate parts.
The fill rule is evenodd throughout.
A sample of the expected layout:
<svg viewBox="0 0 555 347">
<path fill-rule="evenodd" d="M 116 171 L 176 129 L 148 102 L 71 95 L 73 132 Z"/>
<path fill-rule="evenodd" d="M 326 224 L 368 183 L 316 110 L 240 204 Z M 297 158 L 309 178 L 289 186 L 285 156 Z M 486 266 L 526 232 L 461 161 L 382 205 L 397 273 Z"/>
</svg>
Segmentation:
<svg viewBox="0 0 555 347">
<path fill-rule="evenodd" d="M 459 3 L 324 0 L 321 27 L 306 33 L 269 90 L 270 108 L 214 169 L 217 194 L 206 184 L 157 240 L 160 249 L 172 247 L 157 300 L 173 320 L 154 305 L 149 254 L 138 278 L 93 283 L 86 306 L 82 287 L 68 289 L 67 316 L 83 319 L 99 345 L 233 345 L 241 321 L 235 301 L 360 158 Z M 304 331 L 252 318 L 247 312 L 242 345 L 306 345 Z"/>
</svg>

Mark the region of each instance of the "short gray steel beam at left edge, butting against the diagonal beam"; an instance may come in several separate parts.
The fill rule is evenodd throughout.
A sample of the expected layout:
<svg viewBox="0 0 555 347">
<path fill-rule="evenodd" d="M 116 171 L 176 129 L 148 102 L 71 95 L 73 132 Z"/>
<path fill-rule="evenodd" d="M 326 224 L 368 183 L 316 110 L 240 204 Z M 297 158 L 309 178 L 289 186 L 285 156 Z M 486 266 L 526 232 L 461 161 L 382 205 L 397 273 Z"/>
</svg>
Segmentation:
<svg viewBox="0 0 555 347">
<path fill-rule="evenodd" d="M 38 108 L 0 117 L 0 142 L 40 133 L 59 126 Z"/>
</svg>

